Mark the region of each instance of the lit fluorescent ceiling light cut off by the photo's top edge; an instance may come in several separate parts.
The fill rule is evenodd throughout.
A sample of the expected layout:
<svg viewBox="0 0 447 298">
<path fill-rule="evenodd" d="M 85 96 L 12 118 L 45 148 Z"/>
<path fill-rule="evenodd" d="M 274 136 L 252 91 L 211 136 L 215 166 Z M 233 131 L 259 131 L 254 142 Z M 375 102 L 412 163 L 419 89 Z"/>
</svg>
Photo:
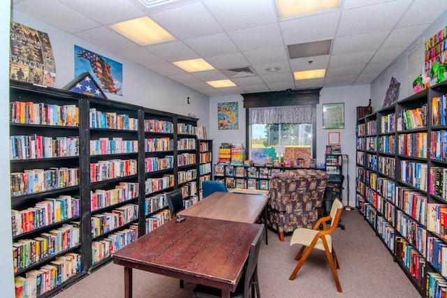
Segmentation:
<svg viewBox="0 0 447 298">
<path fill-rule="evenodd" d="M 325 10 L 337 9 L 340 0 L 277 0 L 279 17 L 298 17 Z"/>
</svg>

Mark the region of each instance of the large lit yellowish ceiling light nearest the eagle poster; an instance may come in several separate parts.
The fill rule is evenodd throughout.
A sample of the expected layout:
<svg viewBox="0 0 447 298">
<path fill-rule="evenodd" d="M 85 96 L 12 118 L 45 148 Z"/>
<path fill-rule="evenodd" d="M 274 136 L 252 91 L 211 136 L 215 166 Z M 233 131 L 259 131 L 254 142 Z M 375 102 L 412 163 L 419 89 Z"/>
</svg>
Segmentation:
<svg viewBox="0 0 447 298">
<path fill-rule="evenodd" d="M 152 45 L 175 39 L 149 17 L 138 17 L 138 19 L 112 24 L 109 27 L 138 45 Z"/>
</svg>

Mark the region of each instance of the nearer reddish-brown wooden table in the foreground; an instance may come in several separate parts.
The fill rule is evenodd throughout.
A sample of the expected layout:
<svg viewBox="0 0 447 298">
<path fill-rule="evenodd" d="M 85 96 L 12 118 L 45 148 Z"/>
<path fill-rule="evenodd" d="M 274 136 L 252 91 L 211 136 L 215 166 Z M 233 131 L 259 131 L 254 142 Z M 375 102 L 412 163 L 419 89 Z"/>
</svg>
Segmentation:
<svg viewBox="0 0 447 298">
<path fill-rule="evenodd" d="M 133 268 L 220 288 L 222 297 L 230 297 L 261 225 L 185 218 L 168 221 L 113 254 L 113 262 L 124 266 L 126 298 L 132 297 Z"/>
</svg>

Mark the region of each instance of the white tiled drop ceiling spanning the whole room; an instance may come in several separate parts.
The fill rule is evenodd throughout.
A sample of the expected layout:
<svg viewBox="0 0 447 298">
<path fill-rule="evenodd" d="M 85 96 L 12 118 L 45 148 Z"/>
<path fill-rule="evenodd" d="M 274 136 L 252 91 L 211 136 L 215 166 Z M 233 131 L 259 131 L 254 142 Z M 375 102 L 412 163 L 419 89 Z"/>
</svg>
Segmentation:
<svg viewBox="0 0 447 298">
<path fill-rule="evenodd" d="M 279 20 L 274 0 L 178 0 L 152 8 L 140 0 L 14 0 L 12 5 L 208 96 L 370 84 L 447 10 L 445 0 L 341 0 L 338 10 Z M 175 40 L 140 46 L 108 27 L 145 15 Z M 332 40 L 329 54 L 289 58 L 288 45 L 323 40 Z M 198 58 L 216 69 L 186 73 L 172 64 Z M 280 69 L 266 70 L 273 66 Z M 236 68 L 252 74 L 227 71 Z M 321 68 L 324 78 L 293 79 L 294 71 Z M 237 86 L 206 83 L 225 79 Z"/>
</svg>

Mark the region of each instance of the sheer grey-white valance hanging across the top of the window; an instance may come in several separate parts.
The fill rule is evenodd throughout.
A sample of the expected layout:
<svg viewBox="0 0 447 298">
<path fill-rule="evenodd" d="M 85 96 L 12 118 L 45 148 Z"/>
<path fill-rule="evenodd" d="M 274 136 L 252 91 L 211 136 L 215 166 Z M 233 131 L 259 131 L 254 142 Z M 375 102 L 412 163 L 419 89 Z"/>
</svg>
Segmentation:
<svg viewBox="0 0 447 298">
<path fill-rule="evenodd" d="M 250 107 L 249 124 L 312 124 L 312 105 Z"/>
</svg>

